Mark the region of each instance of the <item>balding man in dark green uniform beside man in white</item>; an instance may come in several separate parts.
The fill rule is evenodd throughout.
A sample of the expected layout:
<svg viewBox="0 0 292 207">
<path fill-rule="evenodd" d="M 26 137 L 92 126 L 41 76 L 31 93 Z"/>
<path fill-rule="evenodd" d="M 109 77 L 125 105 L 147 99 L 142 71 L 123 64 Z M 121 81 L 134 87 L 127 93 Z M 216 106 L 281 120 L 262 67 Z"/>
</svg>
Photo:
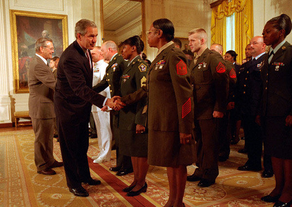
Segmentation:
<svg viewBox="0 0 292 207">
<path fill-rule="evenodd" d="M 105 61 L 110 61 L 106 69 L 106 74 L 103 80 L 95 85 L 92 89 L 96 92 L 101 92 L 110 86 L 110 96 L 120 95 L 120 79 L 125 70 L 125 61 L 121 55 L 118 54 L 117 45 L 114 41 L 106 41 L 101 47 L 102 55 Z M 118 111 L 113 111 L 112 115 L 112 129 L 113 137 L 116 145 L 116 159 L 117 166 L 111 167 L 110 170 L 117 172 L 117 175 L 127 175 L 133 172 L 131 158 L 129 156 L 120 156 L 119 152 L 119 132 L 118 132 Z"/>
</svg>

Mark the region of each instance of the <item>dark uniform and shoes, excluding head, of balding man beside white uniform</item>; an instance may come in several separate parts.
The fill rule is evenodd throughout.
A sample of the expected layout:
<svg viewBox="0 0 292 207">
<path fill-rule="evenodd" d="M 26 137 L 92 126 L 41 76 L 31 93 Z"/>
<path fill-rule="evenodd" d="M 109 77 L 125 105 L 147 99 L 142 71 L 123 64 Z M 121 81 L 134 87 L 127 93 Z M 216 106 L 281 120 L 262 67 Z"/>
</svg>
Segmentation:
<svg viewBox="0 0 292 207">
<path fill-rule="evenodd" d="M 104 89 L 106 89 L 108 86 L 110 86 L 110 96 L 111 97 L 119 96 L 120 95 L 120 79 L 123 74 L 123 71 L 126 68 L 125 64 L 126 62 L 124 61 L 121 55 L 119 55 L 118 53 L 114 54 L 111 57 L 111 60 L 106 69 L 106 74 L 103 80 L 97 85 L 95 85 L 92 89 L 99 93 L 103 91 Z M 113 137 L 114 137 L 115 146 L 116 146 L 117 167 L 112 167 L 110 169 L 113 169 L 114 171 L 118 171 L 118 173 L 121 169 L 123 169 L 123 171 L 126 171 L 126 174 L 128 174 L 128 172 L 132 172 L 132 162 L 129 156 L 120 155 L 118 113 L 119 113 L 118 111 L 112 112 L 112 130 L 113 130 Z M 124 174 L 125 173 L 122 173 L 121 175 L 124 175 Z"/>
</svg>

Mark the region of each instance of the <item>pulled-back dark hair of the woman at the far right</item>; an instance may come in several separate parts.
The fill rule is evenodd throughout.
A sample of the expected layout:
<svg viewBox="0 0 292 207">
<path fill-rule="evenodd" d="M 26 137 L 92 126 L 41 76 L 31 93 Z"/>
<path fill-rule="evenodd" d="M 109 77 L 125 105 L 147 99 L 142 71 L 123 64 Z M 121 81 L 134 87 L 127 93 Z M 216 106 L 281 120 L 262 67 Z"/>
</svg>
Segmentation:
<svg viewBox="0 0 292 207">
<path fill-rule="evenodd" d="M 292 29 L 291 19 L 286 14 L 281 14 L 278 17 L 274 17 L 271 20 L 269 20 L 267 23 L 274 24 L 274 27 L 277 28 L 277 30 L 279 31 L 281 29 L 284 29 L 285 30 L 284 38 L 286 38 L 286 36 L 290 34 L 291 29 Z"/>
</svg>

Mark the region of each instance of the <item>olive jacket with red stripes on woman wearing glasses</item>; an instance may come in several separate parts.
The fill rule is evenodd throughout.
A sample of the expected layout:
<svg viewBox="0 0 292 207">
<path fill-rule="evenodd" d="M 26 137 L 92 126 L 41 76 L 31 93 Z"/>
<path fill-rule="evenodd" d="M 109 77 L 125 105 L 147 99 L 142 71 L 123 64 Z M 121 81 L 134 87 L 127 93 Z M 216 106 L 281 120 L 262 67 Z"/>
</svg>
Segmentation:
<svg viewBox="0 0 292 207">
<path fill-rule="evenodd" d="M 148 92 L 148 128 L 157 131 L 191 133 L 193 96 L 186 57 L 174 44 L 166 47 L 151 63 L 147 87 L 122 97 L 134 103 Z"/>
</svg>

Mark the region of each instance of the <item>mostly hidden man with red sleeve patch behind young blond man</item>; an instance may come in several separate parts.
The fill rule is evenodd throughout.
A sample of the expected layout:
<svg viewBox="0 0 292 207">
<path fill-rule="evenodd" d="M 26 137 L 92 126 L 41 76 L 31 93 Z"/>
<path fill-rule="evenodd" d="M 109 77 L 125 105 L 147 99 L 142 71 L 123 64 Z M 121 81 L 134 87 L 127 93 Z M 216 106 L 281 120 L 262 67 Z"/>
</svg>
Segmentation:
<svg viewBox="0 0 292 207">
<path fill-rule="evenodd" d="M 223 46 L 221 44 L 212 44 L 210 50 L 219 52 L 223 56 Z M 227 99 L 226 115 L 219 120 L 219 162 L 224 162 L 229 158 L 230 154 L 230 140 L 231 140 L 231 125 L 234 122 L 234 91 L 237 81 L 235 65 L 232 62 L 225 61 L 226 72 L 229 78 L 229 94 Z M 233 122 L 233 123 L 231 123 Z M 234 127 L 232 127 L 234 130 Z"/>
</svg>

